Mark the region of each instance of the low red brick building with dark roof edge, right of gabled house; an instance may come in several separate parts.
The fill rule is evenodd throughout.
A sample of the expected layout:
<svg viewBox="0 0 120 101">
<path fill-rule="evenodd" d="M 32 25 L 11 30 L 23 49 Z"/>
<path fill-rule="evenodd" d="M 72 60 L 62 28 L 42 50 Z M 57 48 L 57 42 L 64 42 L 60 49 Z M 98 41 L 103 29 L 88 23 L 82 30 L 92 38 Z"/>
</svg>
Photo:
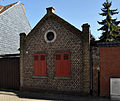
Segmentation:
<svg viewBox="0 0 120 101">
<path fill-rule="evenodd" d="M 120 78 L 120 42 L 97 43 L 92 46 L 91 53 L 93 93 L 94 95 L 99 93 L 100 96 L 109 96 L 110 78 Z M 98 72 L 100 72 L 99 76 Z"/>
</svg>

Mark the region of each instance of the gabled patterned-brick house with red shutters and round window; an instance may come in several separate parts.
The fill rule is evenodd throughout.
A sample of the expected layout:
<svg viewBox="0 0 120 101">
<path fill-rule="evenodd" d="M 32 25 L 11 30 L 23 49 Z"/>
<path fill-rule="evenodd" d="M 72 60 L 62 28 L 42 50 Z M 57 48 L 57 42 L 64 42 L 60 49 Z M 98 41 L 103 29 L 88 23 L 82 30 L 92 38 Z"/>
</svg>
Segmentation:
<svg viewBox="0 0 120 101">
<path fill-rule="evenodd" d="M 47 8 L 28 35 L 20 34 L 20 88 L 89 94 L 90 26 L 80 31 L 54 10 Z"/>
</svg>

